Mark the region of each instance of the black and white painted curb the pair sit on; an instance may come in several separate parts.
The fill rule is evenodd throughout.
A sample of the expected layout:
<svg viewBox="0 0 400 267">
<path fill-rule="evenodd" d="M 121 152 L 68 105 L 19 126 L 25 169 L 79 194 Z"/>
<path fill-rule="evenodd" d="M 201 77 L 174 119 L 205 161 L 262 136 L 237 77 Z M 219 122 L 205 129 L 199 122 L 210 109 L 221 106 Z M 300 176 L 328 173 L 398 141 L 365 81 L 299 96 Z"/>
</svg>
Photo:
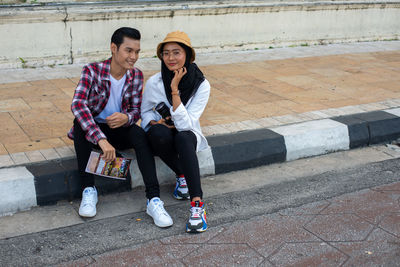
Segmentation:
<svg viewBox="0 0 400 267">
<path fill-rule="evenodd" d="M 400 108 L 207 137 L 210 148 L 198 153 L 201 176 L 296 160 L 400 138 Z M 121 152 L 135 159 L 134 151 Z M 156 157 L 160 184 L 174 174 Z M 96 178 L 100 193 L 143 186 L 134 161 L 128 181 Z M 75 159 L 0 169 L 0 216 L 80 197 Z"/>
</svg>

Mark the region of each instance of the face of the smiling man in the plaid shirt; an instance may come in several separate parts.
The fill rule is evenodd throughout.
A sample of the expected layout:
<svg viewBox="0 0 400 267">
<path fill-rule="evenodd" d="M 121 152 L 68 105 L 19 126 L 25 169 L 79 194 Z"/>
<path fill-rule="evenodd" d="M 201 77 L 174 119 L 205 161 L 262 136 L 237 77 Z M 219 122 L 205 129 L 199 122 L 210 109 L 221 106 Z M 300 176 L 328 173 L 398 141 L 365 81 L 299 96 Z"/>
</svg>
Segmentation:
<svg viewBox="0 0 400 267">
<path fill-rule="evenodd" d="M 117 48 L 116 44 L 111 43 L 111 51 L 113 53 L 113 60 L 117 65 L 124 69 L 133 69 L 139 58 L 140 41 L 124 37 L 119 48 Z"/>
</svg>

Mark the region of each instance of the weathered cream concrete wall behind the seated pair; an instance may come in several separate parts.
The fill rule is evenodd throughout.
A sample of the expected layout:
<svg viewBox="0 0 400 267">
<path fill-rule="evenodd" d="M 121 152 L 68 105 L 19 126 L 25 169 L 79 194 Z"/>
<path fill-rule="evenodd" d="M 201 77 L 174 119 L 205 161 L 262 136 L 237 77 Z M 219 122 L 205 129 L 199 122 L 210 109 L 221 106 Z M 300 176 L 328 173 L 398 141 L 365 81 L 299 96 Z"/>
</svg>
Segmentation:
<svg viewBox="0 0 400 267">
<path fill-rule="evenodd" d="M 400 1 L 206 1 L 0 8 L 0 68 L 71 64 L 109 54 L 121 26 L 143 35 L 142 56 L 172 30 L 199 51 L 398 39 Z"/>
</svg>

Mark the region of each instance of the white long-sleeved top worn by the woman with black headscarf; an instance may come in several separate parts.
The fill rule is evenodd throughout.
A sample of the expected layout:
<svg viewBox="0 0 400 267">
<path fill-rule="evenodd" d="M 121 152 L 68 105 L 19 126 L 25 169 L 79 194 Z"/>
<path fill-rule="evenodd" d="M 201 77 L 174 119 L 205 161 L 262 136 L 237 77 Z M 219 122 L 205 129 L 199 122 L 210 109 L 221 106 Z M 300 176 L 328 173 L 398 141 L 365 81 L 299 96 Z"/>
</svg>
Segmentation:
<svg viewBox="0 0 400 267">
<path fill-rule="evenodd" d="M 172 111 L 165 95 L 164 83 L 161 78 L 161 72 L 154 74 L 146 82 L 143 92 L 141 115 L 142 128 L 147 132 L 150 128 L 150 121 L 158 121 L 161 116 L 154 110 L 155 106 L 164 102 L 171 112 L 172 121 L 178 131 L 192 131 L 197 138 L 197 151 L 204 150 L 208 147 L 207 139 L 204 137 L 200 128 L 200 116 L 206 108 L 208 98 L 210 96 L 210 83 L 204 80 L 196 94 L 192 96 L 186 105 L 181 103 L 179 107 Z"/>
</svg>

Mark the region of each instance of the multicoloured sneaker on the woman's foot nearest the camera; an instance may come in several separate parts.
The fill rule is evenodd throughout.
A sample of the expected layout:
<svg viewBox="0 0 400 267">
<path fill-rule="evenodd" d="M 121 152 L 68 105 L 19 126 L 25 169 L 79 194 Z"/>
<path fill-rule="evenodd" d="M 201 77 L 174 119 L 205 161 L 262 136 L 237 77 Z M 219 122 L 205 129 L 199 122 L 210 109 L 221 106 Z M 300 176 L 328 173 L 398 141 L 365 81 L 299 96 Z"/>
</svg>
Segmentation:
<svg viewBox="0 0 400 267">
<path fill-rule="evenodd" d="M 190 208 L 190 218 L 186 224 L 186 232 L 201 233 L 207 230 L 207 218 L 204 202 L 192 201 Z"/>
</svg>

